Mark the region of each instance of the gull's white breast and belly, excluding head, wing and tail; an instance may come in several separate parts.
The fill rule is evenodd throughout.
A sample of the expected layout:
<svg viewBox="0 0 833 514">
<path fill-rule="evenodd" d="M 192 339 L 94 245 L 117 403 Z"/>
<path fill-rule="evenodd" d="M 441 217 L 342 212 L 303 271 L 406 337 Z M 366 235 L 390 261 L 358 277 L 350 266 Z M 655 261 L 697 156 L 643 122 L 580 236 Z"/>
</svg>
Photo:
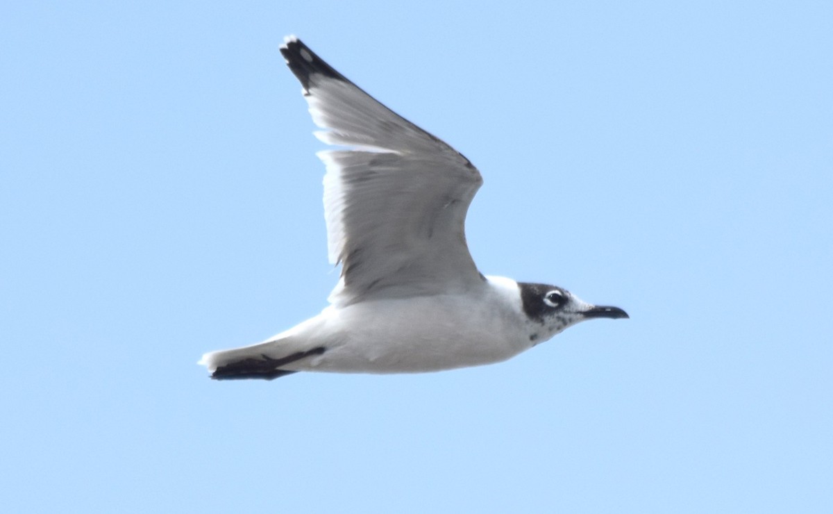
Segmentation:
<svg viewBox="0 0 833 514">
<path fill-rule="evenodd" d="M 297 337 L 326 347 L 297 369 L 430 372 L 500 362 L 532 346 L 516 282 L 490 277 L 465 295 L 327 307 Z"/>
</svg>

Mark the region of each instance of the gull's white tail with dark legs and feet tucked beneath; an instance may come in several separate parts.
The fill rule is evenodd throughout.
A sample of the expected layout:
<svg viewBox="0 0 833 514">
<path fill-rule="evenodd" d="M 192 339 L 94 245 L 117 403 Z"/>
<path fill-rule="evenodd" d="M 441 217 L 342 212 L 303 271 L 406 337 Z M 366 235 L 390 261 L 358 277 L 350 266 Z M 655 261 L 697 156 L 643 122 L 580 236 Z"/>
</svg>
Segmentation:
<svg viewBox="0 0 833 514">
<path fill-rule="evenodd" d="M 268 341 L 250 347 L 210 352 L 203 355 L 197 364 L 207 367 L 214 380 L 274 380 L 295 372 L 283 367 L 305 357 L 321 355 L 325 350 L 324 347 L 315 347 L 293 352 L 283 343 L 281 340 Z"/>
</svg>

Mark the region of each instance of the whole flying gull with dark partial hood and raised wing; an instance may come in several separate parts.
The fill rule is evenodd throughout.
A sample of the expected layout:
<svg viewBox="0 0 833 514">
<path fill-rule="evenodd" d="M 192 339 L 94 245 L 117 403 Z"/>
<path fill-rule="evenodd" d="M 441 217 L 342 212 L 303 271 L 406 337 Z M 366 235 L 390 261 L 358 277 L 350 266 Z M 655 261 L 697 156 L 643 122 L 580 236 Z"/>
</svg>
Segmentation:
<svg viewBox="0 0 833 514">
<path fill-rule="evenodd" d="M 217 379 L 299 371 L 435 372 L 501 362 L 566 327 L 627 317 L 561 287 L 486 277 L 466 247 L 482 180 L 466 157 L 367 95 L 295 37 L 320 152 L 330 260 L 342 276 L 319 315 L 249 347 L 202 357 Z"/>
</svg>

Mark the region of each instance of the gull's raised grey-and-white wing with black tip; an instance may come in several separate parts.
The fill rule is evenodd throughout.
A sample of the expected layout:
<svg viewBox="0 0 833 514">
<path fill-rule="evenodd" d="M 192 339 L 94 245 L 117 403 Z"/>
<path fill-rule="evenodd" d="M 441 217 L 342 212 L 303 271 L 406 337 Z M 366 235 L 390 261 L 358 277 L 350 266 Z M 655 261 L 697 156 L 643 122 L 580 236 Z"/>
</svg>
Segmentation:
<svg viewBox="0 0 833 514">
<path fill-rule="evenodd" d="M 466 247 L 466 211 L 482 178 L 471 162 L 362 91 L 295 37 L 281 47 L 301 81 L 319 152 L 330 262 L 342 276 L 330 301 L 463 292 L 483 277 Z"/>
</svg>

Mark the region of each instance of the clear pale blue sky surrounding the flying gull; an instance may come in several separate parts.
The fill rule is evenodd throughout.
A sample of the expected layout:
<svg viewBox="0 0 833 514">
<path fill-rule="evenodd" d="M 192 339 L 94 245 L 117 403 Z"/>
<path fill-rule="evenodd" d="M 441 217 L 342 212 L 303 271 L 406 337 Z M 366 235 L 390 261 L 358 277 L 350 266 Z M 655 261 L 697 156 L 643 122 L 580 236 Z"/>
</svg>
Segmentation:
<svg viewBox="0 0 833 514">
<path fill-rule="evenodd" d="M 831 512 L 831 2 L 4 2 L 5 512 Z M 297 34 L 485 184 L 486 274 L 630 320 L 213 382 L 319 312 Z"/>
</svg>

